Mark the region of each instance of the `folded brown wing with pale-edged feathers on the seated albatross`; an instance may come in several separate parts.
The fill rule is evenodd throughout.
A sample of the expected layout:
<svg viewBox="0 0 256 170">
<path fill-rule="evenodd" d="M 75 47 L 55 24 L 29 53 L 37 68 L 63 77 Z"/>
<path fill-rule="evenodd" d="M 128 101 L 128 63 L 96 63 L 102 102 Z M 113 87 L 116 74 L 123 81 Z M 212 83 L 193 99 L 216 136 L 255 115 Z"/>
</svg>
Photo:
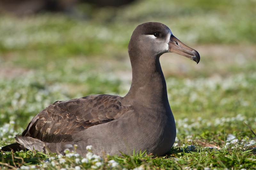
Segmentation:
<svg viewBox="0 0 256 170">
<path fill-rule="evenodd" d="M 23 131 L 22 136 L 43 142 L 65 142 L 71 134 L 117 119 L 129 106 L 122 106 L 122 97 L 107 94 L 56 101 L 39 112 Z"/>
</svg>

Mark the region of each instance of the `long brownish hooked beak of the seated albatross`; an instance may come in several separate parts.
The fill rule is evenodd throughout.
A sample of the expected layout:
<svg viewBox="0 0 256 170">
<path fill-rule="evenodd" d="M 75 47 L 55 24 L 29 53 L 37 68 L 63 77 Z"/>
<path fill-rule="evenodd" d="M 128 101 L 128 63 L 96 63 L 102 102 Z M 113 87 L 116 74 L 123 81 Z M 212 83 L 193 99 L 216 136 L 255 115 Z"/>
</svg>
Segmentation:
<svg viewBox="0 0 256 170">
<path fill-rule="evenodd" d="M 198 52 L 185 44 L 183 44 L 180 40 L 178 40 L 176 37 L 171 35 L 170 41 L 168 42 L 169 45 L 169 52 L 173 52 L 179 55 L 183 55 L 185 57 L 188 57 L 189 59 L 195 61 L 196 63 L 199 63 L 200 61 L 200 55 Z"/>
</svg>

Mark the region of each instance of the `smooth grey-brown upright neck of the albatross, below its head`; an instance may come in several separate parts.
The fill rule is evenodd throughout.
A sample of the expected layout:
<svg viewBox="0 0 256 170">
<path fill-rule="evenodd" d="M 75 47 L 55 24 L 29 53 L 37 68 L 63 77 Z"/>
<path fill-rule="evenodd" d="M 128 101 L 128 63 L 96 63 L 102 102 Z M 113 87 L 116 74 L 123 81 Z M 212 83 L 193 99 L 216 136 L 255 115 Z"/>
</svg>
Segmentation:
<svg viewBox="0 0 256 170">
<path fill-rule="evenodd" d="M 132 102 L 133 106 L 165 107 L 169 106 L 164 74 L 159 62 L 159 56 L 133 57 L 132 85 L 124 96 L 124 100 Z M 144 59 L 144 60 L 143 60 Z M 141 61 L 143 60 L 143 61 Z"/>
</svg>

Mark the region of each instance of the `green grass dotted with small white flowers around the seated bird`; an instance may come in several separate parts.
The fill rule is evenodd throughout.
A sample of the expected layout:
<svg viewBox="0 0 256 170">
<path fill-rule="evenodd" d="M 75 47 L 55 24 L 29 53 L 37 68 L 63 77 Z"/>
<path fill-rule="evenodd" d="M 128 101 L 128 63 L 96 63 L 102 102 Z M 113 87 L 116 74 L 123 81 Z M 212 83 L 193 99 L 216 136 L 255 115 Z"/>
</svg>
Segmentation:
<svg viewBox="0 0 256 170">
<path fill-rule="evenodd" d="M 134 28 L 157 21 L 196 49 L 201 61 L 160 58 L 177 126 L 164 156 L 99 158 L 25 151 L 0 153 L 20 169 L 255 169 L 255 1 L 137 1 L 120 8 L 77 6 L 88 19 L 40 13 L 0 20 L 0 146 L 14 142 L 56 100 L 124 96 L 131 84 L 127 45 Z M 147 152 L 147 151 L 146 151 Z"/>
</svg>

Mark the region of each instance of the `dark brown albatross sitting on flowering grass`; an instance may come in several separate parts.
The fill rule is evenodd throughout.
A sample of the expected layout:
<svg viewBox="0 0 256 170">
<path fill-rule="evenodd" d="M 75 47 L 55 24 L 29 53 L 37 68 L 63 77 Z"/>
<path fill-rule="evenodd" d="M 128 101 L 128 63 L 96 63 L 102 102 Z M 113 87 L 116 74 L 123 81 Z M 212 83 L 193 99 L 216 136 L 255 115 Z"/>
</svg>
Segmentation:
<svg viewBox="0 0 256 170">
<path fill-rule="evenodd" d="M 102 155 L 145 151 L 161 156 L 174 144 L 176 127 L 167 98 L 159 57 L 174 52 L 199 62 L 198 52 L 180 42 L 164 24 L 136 27 L 128 45 L 132 85 L 126 96 L 98 94 L 56 101 L 39 112 L 17 143 L 2 148 L 85 155 L 87 145 Z"/>
</svg>

